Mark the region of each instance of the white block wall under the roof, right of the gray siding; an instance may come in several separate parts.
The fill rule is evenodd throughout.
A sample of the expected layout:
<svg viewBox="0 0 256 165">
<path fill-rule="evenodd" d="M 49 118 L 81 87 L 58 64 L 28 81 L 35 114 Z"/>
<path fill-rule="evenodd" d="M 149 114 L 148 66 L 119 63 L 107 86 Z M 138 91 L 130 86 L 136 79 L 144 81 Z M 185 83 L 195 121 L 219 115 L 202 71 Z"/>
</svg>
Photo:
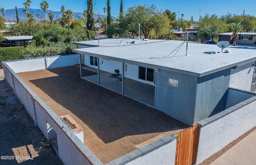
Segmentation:
<svg viewBox="0 0 256 165">
<path fill-rule="evenodd" d="M 254 62 L 231 69 L 229 87 L 250 91 L 254 71 L 252 64 Z"/>
</svg>

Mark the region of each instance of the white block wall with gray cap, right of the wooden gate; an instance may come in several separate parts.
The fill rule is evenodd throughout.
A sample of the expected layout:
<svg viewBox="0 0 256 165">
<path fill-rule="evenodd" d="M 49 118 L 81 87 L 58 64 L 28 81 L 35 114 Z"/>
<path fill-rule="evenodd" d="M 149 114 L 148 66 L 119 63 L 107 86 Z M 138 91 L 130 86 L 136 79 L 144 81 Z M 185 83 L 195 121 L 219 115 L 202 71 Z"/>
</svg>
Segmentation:
<svg viewBox="0 0 256 165">
<path fill-rule="evenodd" d="M 197 164 L 256 126 L 256 96 L 248 98 L 210 118 L 201 125 Z"/>
</svg>

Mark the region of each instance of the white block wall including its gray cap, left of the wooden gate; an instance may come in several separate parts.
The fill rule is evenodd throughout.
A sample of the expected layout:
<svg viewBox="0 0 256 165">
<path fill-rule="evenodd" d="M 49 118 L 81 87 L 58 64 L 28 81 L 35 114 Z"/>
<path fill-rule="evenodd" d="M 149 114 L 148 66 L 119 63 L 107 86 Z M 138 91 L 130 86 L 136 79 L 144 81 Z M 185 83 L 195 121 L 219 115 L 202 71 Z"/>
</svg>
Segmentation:
<svg viewBox="0 0 256 165">
<path fill-rule="evenodd" d="M 105 165 L 174 165 L 177 136 L 166 136 Z"/>
</svg>

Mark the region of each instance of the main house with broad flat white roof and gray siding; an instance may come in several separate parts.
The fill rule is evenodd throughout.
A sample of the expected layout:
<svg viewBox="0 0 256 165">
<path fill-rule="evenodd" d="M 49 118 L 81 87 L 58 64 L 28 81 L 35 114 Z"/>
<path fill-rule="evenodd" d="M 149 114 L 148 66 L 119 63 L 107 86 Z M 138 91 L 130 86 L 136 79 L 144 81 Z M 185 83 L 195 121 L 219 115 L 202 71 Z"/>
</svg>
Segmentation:
<svg viewBox="0 0 256 165">
<path fill-rule="evenodd" d="M 253 49 L 228 47 L 231 52 L 224 53 L 216 45 L 188 43 L 186 55 L 185 45 L 174 51 L 182 41 L 132 41 L 75 42 L 83 49 L 74 51 L 98 73 L 118 68 L 126 78 L 154 86 L 154 108 L 189 125 L 228 108 L 229 87 L 255 92 Z"/>
</svg>

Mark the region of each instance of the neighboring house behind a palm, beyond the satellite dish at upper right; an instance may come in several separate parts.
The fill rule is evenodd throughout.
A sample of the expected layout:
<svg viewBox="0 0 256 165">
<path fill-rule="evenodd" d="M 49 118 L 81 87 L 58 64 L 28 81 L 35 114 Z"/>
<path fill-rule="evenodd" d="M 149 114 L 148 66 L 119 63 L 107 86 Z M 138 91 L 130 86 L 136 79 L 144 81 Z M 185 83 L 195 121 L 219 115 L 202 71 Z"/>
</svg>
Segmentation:
<svg viewBox="0 0 256 165">
<path fill-rule="evenodd" d="M 230 44 L 233 43 L 233 32 L 230 33 L 220 33 L 219 41 L 228 41 Z M 237 44 L 245 44 L 245 45 L 256 45 L 256 33 L 238 33 L 238 38 L 236 40 Z"/>
</svg>

